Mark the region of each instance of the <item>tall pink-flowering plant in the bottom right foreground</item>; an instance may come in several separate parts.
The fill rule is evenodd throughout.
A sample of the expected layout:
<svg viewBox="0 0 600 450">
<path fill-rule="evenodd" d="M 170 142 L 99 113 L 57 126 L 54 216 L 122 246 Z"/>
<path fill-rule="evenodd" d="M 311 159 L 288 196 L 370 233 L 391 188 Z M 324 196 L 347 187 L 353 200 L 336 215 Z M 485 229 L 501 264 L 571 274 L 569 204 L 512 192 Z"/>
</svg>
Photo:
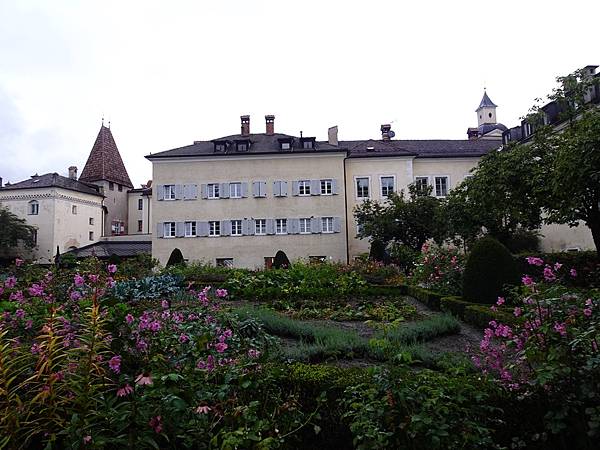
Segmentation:
<svg viewBox="0 0 600 450">
<path fill-rule="evenodd" d="M 576 427 L 595 436 L 600 431 L 600 295 L 560 285 L 564 273 L 572 276 L 568 268 L 536 257 L 529 264 L 543 268 L 541 277 L 523 276 L 514 321 L 491 321 L 473 361 L 506 389 L 545 402 L 549 432 Z M 498 306 L 503 302 L 499 299 Z"/>
</svg>

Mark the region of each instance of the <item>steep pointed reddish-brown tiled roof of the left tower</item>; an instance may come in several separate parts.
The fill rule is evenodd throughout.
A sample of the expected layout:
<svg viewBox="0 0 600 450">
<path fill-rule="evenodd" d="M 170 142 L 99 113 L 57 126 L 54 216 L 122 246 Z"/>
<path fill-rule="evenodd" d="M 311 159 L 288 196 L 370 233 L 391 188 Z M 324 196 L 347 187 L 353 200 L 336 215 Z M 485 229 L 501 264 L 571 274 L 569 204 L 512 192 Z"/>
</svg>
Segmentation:
<svg viewBox="0 0 600 450">
<path fill-rule="evenodd" d="M 105 127 L 104 124 L 100 127 L 96 142 L 79 179 L 87 182 L 112 181 L 133 188 L 115 139 L 110 128 Z"/>
</svg>

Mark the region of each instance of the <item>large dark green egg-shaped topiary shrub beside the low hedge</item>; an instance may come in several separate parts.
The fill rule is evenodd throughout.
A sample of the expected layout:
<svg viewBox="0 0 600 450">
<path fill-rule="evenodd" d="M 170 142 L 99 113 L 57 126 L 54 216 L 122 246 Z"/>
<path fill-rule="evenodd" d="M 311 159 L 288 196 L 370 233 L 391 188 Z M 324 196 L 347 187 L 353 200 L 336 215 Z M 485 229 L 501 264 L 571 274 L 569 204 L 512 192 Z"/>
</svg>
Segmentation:
<svg viewBox="0 0 600 450">
<path fill-rule="evenodd" d="M 463 297 L 475 303 L 496 303 L 506 285 L 519 282 L 517 264 L 508 249 L 491 237 L 473 245 L 463 274 Z"/>
</svg>

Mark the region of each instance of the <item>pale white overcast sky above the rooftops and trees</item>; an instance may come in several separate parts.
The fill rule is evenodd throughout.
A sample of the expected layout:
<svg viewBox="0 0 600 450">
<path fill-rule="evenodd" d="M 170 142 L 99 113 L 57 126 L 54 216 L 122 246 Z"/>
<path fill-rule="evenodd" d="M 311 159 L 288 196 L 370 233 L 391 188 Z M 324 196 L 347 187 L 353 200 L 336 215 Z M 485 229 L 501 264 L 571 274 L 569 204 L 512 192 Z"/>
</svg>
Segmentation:
<svg viewBox="0 0 600 450">
<path fill-rule="evenodd" d="M 238 133 L 464 139 L 484 86 L 517 124 L 554 79 L 600 64 L 599 1 L 0 0 L 0 176 L 83 168 L 111 121 L 144 155 Z"/>
</svg>

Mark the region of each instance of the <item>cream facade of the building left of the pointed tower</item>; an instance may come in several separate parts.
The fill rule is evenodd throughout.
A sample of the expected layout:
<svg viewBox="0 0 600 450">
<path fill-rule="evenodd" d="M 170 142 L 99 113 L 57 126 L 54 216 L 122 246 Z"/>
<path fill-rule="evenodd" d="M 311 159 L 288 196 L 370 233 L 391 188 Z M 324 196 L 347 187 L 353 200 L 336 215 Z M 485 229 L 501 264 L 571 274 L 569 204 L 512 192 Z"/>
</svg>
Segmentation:
<svg viewBox="0 0 600 450">
<path fill-rule="evenodd" d="M 64 253 L 102 234 L 102 196 L 58 187 L 14 189 L 0 191 L 0 203 L 37 227 L 37 247 L 28 256 L 41 264 L 53 262 L 57 247 Z"/>
</svg>

